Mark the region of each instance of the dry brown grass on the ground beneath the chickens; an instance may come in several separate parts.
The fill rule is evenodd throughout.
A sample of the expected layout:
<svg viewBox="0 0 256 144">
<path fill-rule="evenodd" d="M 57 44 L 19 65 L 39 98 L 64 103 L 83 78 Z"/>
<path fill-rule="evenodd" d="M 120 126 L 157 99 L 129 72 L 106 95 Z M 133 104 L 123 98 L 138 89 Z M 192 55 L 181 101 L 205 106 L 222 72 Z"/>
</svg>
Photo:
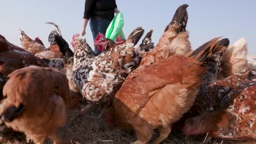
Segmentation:
<svg viewBox="0 0 256 144">
<path fill-rule="evenodd" d="M 71 110 L 69 118 L 72 118 L 77 114 L 78 110 Z M 59 135 L 67 141 L 67 143 L 72 144 L 98 144 L 98 143 L 109 143 L 109 144 L 120 144 L 120 143 L 131 143 L 136 140 L 136 136 L 133 131 L 124 131 L 117 127 L 108 127 L 104 122 L 103 118 L 97 119 L 96 116 L 101 112 L 101 107 L 97 106 L 91 109 L 86 115 L 78 118 L 69 127 L 63 127 L 59 131 Z M 25 135 L 22 133 L 16 133 L 12 130 L 4 130 L 1 133 L 0 143 L 3 144 L 21 144 L 25 142 Z M 153 139 L 158 136 L 155 133 Z M 173 131 L 172 134 L 166 139 L 163 144 L 200 144 L 205 139 L 205 136 L 194 136 L 184 138 L 181 131 Z M 50 141 L 45 141 L 45 143 L 51 143 Z M 214 139 L 212 144 L 222 143 L 231 144 L 231 142 L 226 142 L 222 140 Z"/>
</svg>

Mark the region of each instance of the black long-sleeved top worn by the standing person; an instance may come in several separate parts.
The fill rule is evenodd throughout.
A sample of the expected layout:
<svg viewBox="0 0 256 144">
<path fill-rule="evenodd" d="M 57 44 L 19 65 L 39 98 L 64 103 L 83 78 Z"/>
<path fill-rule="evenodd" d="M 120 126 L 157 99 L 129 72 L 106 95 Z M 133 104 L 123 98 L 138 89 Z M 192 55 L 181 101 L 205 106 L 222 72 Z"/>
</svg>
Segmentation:
<svg viewBox="0 0 256 144">
<path fill-rule="evenodd" d="M 86 0 L 84 19 L 109 19 L 114 18 L 114 9 L 117 8 L 115 0 Z"/>
</svg>

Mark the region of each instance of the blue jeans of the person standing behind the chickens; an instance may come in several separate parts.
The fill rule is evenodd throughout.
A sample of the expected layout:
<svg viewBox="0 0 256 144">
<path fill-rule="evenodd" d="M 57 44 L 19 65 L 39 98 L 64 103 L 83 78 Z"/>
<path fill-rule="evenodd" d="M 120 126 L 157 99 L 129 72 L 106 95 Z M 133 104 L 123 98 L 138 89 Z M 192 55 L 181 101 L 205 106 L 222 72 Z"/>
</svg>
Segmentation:
<svg viewBox="0 0 256 144">
<path fill-rule="evenodd" d="M 96 35 L 98 34 L 98 32 L 103 33 L 104 35 L 106 34 L 107 28 L 110 24 L 110 20 L 108 19 L 100 19 L 100 20 L 96 20 L 96 19 L 90 19 L 90 27 L 91 27 L 91 33 L 92 33 L 92 37 L 96 38 Z M 100 55 L 100 51 L 98 51 L 97 46 L 94 47 L 94 52 L 96 55 Z"/>
</svg>

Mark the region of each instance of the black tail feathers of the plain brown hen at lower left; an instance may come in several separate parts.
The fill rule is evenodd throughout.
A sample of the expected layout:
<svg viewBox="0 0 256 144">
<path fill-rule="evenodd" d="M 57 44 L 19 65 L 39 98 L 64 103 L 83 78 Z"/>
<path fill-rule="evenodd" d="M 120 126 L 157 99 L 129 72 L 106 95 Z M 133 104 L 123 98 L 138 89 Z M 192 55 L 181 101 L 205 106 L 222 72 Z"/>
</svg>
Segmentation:
<svg viewBox="0 0 256 144">
<path fill-rule="evenodd" d="M 1 121 L 2 122 L 11 122 L 15 118 L 22 115 L 22 113 L 25 110 L 25 105 L 20 104 L 18 107 L 15 106 L 9 106 L 7 109 L 4 110 L 4 112 L 1 115 Z"/>
</svg>

